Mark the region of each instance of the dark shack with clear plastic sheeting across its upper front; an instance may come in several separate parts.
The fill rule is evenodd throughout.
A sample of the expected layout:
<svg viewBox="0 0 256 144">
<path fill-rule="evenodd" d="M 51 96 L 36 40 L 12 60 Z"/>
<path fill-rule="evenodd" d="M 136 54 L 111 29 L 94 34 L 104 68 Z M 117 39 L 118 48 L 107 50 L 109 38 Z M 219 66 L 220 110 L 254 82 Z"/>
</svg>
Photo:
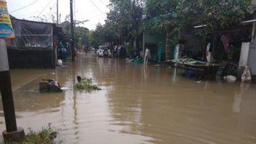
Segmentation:
<svg viewBox="0 0 256 144">
<path fill-rule="evenodd" d="M 52 23 L 11 20 L 15 39 L 6 39 L 10 68 L 55 68 L 60 28 Z"/>
</svg>

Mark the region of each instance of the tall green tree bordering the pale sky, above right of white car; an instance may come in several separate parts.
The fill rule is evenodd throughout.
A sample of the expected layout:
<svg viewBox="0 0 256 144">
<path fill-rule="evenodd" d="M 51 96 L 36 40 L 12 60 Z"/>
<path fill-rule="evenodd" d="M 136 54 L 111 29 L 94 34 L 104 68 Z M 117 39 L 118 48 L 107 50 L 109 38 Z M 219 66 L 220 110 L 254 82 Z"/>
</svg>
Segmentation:
<svg viewBox="0 0 256 144">
<path fill-rule="evenodd" d="M 111 0 L 105 23 L 116 29 L 116 37 L 124 41 L 138 39 L 143 31 L 143 1 Z"/>
</svg>

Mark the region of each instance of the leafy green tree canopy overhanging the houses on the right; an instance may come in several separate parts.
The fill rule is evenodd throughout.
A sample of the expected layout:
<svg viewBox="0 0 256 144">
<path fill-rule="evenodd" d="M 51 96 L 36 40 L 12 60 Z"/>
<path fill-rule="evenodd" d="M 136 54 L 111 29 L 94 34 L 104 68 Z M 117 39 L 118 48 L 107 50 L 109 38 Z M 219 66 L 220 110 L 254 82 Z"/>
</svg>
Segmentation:
<svg viewBox="0 0 256 144">
<path fill-rule="evenodd" d="M 167 31 L 173 46 L 182 39 L 180 31 L 190 29 L 205 47 L 206 40 L 215 31 L 239 25 L 251 4 L 251 0 L 148 0 L 148 28 Z M 194 29 L 195 25 L 206 27 Z"/>
</svg>

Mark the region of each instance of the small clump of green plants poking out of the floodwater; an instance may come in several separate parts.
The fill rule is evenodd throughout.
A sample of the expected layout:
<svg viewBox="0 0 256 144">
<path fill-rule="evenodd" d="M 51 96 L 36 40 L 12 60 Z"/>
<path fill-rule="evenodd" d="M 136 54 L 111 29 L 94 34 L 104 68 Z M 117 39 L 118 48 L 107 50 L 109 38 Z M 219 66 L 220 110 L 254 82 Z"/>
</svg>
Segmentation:
<svg viewBox="0 0 256 144">
<path fill-rule="evenodd" d="M 86 77 L 82 78 L 80 82 L 76 83 L 74 88 L 76 90 L 85 90 L 85 91 L 92 91 L 92 90 L 101 90 L 97 85 L 92 84 L 92 78 L 88 79 Z"/>
</svg>

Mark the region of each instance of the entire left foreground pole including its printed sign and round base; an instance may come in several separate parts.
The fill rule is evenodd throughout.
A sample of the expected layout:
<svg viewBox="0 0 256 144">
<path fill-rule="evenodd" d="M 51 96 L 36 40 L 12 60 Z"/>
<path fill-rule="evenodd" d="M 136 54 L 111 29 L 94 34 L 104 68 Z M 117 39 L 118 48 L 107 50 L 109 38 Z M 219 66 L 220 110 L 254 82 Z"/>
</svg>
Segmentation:
<svg viewBox="0 0 256 144">
<path fill-rule="evenodd" d="M 3 103 L 5 126 L 7 128 L 4 130 L 4 132 L 2 132 L 2 135 L 4 140 L 12 140 L 12 142 L 17 142 L 17 140 L 22 139 L 25 136 L 25 133 L 23 128 L 17 127 L 16 123 L 15 104 L 12 96 L 12 83 L 9 73 L 7 46 L 4 40 L 4 38 L 15 38 L 15 33 L 13 32 L 12 23 L 9 18 L 7 1 L 0 0 L 0 9 L 4 9 L 0 11 L 0 92 L 1 101 Z"/>
</svg>

